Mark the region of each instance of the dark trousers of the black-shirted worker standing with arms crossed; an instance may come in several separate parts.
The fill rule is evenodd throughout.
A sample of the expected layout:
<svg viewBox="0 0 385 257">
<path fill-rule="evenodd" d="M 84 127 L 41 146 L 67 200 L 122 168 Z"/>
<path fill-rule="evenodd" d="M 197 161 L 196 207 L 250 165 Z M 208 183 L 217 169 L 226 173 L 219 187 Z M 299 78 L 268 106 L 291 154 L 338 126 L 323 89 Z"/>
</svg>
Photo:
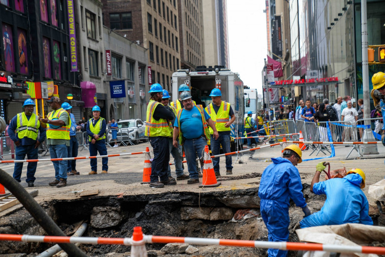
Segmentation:
<svg viewBox="0 0 385 257">
<path fill-rule="evenodd" d="M 154 159 L 151 164 L 150 181 L 167 181 L 167 171 L 170 162 L 170 150 L 168 148 L 168 136 L 150 136 L 150 144 L 153 147 Z M 159 177 L 159 178 L 158 178 Z"/>
</svg>

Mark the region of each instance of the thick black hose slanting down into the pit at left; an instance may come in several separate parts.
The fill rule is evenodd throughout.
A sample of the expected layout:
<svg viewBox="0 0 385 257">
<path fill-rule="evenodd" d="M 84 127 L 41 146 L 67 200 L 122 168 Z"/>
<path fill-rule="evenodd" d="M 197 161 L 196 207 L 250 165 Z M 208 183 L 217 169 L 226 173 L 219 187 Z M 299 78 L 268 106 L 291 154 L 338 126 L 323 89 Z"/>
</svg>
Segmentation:
<svg viewBox="0 0 385 257">
<path fill-rule="evenodd" d="M 13 177 L 8 175 L 5 171 L 0 169 L 0 184 L 8 189 L 25 207 L 25 209 L 38 221 L 40 226 L 50 236 L 67 236 L 56 225 L 48 214 L 40 207 L 35 199 L 17 182 Z M 69 255 L 76 257 L 87 257 L 76 245 L 74 244 L 59 244 L 59 246 Z"/>
</svg>

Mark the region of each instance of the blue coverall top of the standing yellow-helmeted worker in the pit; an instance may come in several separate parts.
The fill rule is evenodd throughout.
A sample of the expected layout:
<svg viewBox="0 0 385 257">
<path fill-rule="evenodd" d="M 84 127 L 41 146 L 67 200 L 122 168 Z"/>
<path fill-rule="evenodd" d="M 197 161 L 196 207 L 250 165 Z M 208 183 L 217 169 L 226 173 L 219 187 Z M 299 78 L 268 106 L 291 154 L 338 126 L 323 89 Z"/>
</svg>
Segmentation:
<svg viewBox="0 0 385 257">
<path fill-rule="evenodd" d="M 298 207 L 305 207 L 300 172 L 286 158 L 271 158 L 273 162 L 262 173 L 258 196 L 261 199 L 280 202 L 289 208 L 289 198 Z"/>
</svg>

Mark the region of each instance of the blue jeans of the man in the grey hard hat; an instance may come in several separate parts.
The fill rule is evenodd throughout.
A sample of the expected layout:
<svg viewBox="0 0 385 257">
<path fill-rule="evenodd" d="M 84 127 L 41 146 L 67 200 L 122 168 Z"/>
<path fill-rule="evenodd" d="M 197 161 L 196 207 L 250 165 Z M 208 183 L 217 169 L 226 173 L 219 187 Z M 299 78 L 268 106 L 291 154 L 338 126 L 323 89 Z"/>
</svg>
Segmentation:
<svg viewBox="0 0 385 257">
<path fill-rule="evenodd" d="M 199 179 L 198 171 L 196 171 L 196 156 L 202 157 L 204 147 L 207 145 L 205 136 L 201 136 L 196 139 L 186 139 L 185 144 L 185 155 L 187 159 L 187 169 L 189 170 L 190 178 Z"/>
</svg>

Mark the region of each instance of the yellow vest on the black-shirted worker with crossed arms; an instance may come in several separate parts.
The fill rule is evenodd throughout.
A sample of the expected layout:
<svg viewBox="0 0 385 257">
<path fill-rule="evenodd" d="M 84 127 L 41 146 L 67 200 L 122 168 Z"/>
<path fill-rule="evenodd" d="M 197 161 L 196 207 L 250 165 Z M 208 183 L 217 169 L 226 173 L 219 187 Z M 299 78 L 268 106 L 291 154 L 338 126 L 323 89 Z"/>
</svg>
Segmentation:
<svg viewBox="0 0 385 257">
<path fill-rule="evenodd" d="M 150 100 L 147 106 L 145 134 L 147 136 L 170 136 L 172 134 L 170 123 L 166 119 L 159 119 L 159 121 L 154 119 L 154 111 L 158 104 L 161 103 Z"/>
</svg>

